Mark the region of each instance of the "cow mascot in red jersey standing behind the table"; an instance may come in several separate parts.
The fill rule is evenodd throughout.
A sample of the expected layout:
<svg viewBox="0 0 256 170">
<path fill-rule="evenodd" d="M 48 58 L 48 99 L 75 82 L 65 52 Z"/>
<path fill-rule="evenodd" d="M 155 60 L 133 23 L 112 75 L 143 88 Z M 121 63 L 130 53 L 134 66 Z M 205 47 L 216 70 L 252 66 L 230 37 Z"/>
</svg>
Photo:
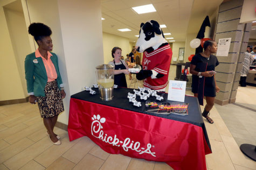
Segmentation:
<svg viewBox="0 0 256 170">
<path fill-rule="evenodd" d="M 140 36 L 136 42 L 137 51 L 143 53 L 143 70 L 137 73 L 138 80 L 144 79 L 144 87 L 165 91 L 172 51 L 164 39 L 163 31 L 157 21 L 141 23 Z"/>
</svg>

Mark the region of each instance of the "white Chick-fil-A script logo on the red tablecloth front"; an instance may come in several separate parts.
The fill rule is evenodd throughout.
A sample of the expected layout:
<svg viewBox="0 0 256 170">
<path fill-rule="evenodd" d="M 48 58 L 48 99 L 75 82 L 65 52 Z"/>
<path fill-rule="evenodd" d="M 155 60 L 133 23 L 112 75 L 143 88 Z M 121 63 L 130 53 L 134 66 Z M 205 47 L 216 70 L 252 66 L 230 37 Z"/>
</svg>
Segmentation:
<svg viewBox="0 0 256 170">
<path fill-rule="evenodd" d="M 150 143 L 147 144 L 147 148 L 145 149 L 144 147 L 141 147 L 141 143 L 140 142 L 135 142 L 131 141 L 130 138 L 126 138 L 124 139 L 124 141 L 120 141 L 119 138 L 117 138 L 116 135 L 114 135 L 114 137 L 112 136 L 108 136 L 107 134 L 104 134 L 103 132 L 103 127 L 102 127 L 102 123 L 106 122 L 105 117 L 100 117 L 100 115 L 93 115 L 92 117 L 92 126 L 91 126 L 91 132 L 92 135 L 96 138 L 99 138 L 101 141 L 109 143 L 113 146 L 118 146 L 118 147 L 122 147 L 124 151 L 128 151 L 129 149 L 134 150 L 136 152 L 139 152 L 139 154 L 142 153 L 148 153 L 151 154 L 151 156 L 156 157 L 155 153 L 156 152 L 151 152 L 151 147 L 152 146 Z"/>
</svg>

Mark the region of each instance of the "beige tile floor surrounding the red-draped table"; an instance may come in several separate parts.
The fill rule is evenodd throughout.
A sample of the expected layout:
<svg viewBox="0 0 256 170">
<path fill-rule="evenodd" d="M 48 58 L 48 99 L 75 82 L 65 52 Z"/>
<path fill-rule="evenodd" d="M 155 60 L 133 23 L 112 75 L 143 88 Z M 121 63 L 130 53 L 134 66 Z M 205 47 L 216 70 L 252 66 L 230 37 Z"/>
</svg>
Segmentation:
<svg viewBox="0 0 256 170">
<path fill-rule="evenodd" d="M 256 144 L 255 94 L 255 87 L 238 88 L 237 103 L 251 109 L 229 104 L 211 110 L 215 123 L 205 121 L 213 152 L 206 155 L 207 169 L 256 169 L 256 162 L 239 149 L 241 143 Z M 61 137 L 60 146 L 46 136 L 36 105 L 0 106 L 0 169 L 172 169 L 163 162 L 109 154 L 87 137 L 69 142 L 65 130 L 55 132 Z"/>
</svg>

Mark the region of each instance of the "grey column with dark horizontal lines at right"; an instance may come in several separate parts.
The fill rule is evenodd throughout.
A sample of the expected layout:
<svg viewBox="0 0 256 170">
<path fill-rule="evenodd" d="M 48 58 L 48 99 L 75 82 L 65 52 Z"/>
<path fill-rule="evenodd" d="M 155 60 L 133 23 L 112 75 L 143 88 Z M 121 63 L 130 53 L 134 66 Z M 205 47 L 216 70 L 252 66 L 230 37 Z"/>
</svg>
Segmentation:
<svg viewBox="0 0 256 170">
<path fill-rule="evenodd" d="M 220 87 L 216 103 L 226 105 L 236 101 L 240 71 L 248 43 L 250 24 L 240 24 L 243 1 L 231 0 L 219 6 L 215 40 L 231 38 L 228 56 L 217 56 L 216 83 Z"/>
</svg>

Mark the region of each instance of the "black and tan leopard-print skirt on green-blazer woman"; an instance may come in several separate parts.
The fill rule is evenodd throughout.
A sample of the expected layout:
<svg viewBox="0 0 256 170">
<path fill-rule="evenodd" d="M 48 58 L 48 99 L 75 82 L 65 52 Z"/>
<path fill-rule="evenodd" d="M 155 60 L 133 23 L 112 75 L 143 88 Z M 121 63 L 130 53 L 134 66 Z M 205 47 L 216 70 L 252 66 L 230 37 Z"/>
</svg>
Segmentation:
<svg viewBox="0 0 256 170">
<path fill-rule="evenodd" d="M 57 81 L 47 82 L 44 92 L 45 97 L 37 97 L 41 117 L 53 117 L 63 112 L 64 106 Z"/>
</svg>

